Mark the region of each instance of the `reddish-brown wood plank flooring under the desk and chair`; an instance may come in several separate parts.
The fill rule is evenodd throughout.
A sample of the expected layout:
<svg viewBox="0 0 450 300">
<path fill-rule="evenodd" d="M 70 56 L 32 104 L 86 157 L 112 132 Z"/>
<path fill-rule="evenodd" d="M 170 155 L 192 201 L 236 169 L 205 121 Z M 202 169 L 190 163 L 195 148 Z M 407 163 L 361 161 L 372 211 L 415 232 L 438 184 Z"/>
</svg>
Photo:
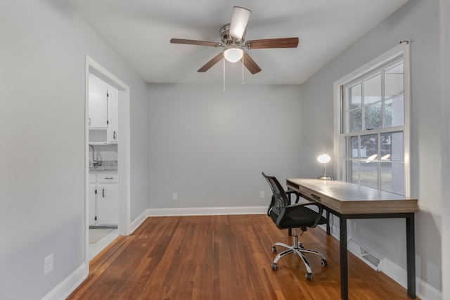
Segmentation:
<svg viewBox="0 0 450 300">
<path fill-rule="evenodd" d="M 301 233 L 301 231 L 299 230 Z M 274 242 L 292 243 L 266 215 L 151 217 L 91 261 L 68 299 L 340 299 L 339 242 L 307 230 L 313 281 L 290 254 L 271 270 Z M 406 289 L 349 253 L 349 299 L 409 299 Z"/>
</svg>

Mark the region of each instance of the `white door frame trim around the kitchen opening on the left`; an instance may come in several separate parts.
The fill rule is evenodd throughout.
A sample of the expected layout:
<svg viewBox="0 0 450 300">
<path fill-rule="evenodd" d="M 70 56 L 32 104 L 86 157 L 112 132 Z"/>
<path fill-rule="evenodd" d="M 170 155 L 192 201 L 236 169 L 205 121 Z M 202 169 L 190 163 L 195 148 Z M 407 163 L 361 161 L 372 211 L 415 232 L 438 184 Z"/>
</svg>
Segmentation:
<svg viewBox="0 0 450 300">
<path fill-rule="evenodd" d="M 106 83 L 115 87 L 119 91 L 119 115 L 118 126 L 120 132 L 120 142 L 117 145 L 117 176 L 119 177 L 119 219 L 118 232 L 120 235 L 129 235 L 131 231 L 130 211 L 130 89 L 120 79 L 115 77 L 95 60 L 86 56 L 85 67 L 85 103 L 84 103 L 84 210 L 85 210 L 85 261 L 89 268 L 89 74 L 94 74 Z"/>
</svg>

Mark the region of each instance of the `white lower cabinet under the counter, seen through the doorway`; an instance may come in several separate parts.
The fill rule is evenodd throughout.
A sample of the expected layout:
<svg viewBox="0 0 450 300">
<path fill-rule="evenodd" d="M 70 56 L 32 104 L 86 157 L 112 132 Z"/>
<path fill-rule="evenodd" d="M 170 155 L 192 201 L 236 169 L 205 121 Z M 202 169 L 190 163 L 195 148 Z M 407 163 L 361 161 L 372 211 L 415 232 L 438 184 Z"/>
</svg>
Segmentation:
<svg viewBox="0 0 450 300">
<path fill-rule="evenodd" d="M 117 173 L 89 174 L 89 226 L 117 226 L 118 192 Z"/>
</svg>

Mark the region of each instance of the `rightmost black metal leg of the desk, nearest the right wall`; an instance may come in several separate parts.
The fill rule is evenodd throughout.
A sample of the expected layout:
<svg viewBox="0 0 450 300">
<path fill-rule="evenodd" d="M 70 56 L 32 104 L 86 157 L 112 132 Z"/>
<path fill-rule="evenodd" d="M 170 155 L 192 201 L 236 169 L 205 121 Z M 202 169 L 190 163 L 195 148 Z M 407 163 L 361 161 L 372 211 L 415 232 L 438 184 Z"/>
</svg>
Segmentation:
<svg viewBox="0 0 450 300">
<path fill-rule="evenodd" d="M 408 296 L 416 298 L 416 242 L 414 236 L 414 214 L 406 217 L 406 273 L 408 274 Z"/>
</svg>

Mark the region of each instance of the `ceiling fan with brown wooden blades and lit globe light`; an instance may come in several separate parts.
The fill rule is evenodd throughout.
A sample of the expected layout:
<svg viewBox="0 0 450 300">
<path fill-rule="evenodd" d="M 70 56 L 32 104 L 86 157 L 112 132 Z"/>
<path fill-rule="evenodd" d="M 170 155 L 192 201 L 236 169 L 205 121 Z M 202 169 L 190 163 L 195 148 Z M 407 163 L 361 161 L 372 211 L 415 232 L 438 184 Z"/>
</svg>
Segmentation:
<svg viewBox="0 0 450 300">
<path fill-rule="evenodd" d="M 234 6 L 231 15 L 231 23 L 226 24 L 220 29 L 221 43 L 214 41 L 195 41 L 192 39 L 171 39 L 172 44 L 188 44 L 198 46 L 222 47 L 224 51 L 214 56 L 198 72 L 206 72 L 210 67 L 219 63 L 222 58 L 226 58 L 231 63 L 243 60 L 243 64 L 252 74 L 261 71 L 261 68 L 255 63 L 245 49 L 266 49 L 266 48 L 297 48 L 298 37 L 287 37 L 281 39 L 255 39 L 245 41 L 246 27 L 248 19 L 252 13 L 247 8 Z"/>
</svg>

